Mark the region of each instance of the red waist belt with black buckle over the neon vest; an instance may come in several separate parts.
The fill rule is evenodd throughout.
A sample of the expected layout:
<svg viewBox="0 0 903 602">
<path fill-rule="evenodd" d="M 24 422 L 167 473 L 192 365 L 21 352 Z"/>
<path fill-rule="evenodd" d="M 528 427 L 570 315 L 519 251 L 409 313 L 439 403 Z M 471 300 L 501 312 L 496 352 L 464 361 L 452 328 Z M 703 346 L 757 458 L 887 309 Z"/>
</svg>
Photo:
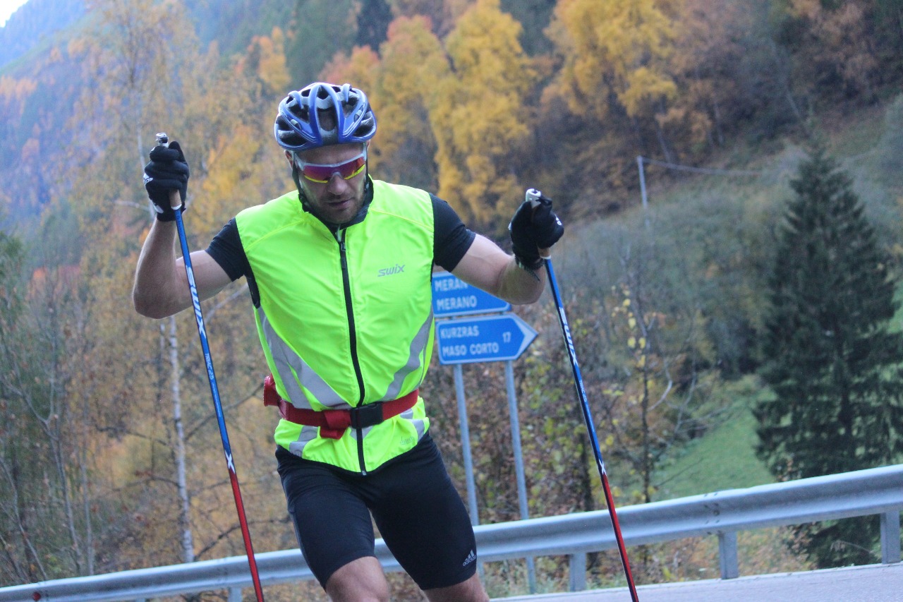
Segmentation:
<svg viewBox="0 0 903 602">
<path fill-rule="evenodd" d="M 397 400 L 377 401 L 357 408 L 349 409 L 315 409 L 295 408 L 291 403 L 282 399 L 276 392 L 276 382 L 272 374 L 267 374 L 264 379 L 264 405 L 277 406 L 279 416 L 295 424 L 303 424 L 309 427 L 320 427 L 320 436 L 329 439 L 339 439 L 345 434 L 345 429 L 373 427 L 380 422 L 397 416 L 408 409 L 414 408 L 417 403 L 417 390 L 414 389 L 404 397 Z"/>
</svg>

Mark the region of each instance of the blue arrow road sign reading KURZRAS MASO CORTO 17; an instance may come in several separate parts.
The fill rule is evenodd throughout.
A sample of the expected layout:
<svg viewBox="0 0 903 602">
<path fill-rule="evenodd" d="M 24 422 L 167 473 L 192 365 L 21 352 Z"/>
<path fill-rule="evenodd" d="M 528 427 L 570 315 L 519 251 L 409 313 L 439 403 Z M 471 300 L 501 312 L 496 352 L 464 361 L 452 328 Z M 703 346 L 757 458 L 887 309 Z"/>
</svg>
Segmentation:
<svg viewBox="0 0 903 602">
<path fill-rule="evenodd" d="M 474 363 L 517 360 L 536 331 L 515 314 L 479 315 L 436 323 L 439 362 Z"/>
</svg>

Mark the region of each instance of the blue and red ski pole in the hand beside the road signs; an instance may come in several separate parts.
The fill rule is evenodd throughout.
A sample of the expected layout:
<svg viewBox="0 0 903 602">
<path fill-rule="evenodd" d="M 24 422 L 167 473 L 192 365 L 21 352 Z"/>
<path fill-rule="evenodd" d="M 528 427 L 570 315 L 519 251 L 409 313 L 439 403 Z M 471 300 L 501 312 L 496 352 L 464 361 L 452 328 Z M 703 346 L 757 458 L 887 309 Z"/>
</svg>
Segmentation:
<svg viewBox="0 0 903 602">
<path fill-rule="evenodd" d="M 534 207 L 540 203 L 549 203 L 551 201 L 543 196 L 535 188 L 526 191 L 526 200 Z M 618 541 L 618 551 L 620 554 L 621 565 L 624 567 L 624 575 L 627 577 L 627 585 L 630 590 L 630 597 L 633 602 L 639 602 L 637 594 L 637 586 L 633 582 L 633 574 L 630 572 L 630 562 L 627 558 L 627 547 L 624 545 L 624 537 L 621 535 L 620 524 L 618 522 L 618 514 L 615 513 L 615 500 L 611 494 L 609 477 L 605 472 L 605 463 L 602 461 L 602 452 L 599 447 L 599 438 L 596 437 L 596 428 L 592 424 L 592 416 L 590 414 L 590 403 L 586 399 L 586 390 L 583 388 L 583 377 L 580 373 L 580 364 L 577 362 L 577 352 L 573 348 L 573 340 L 571 338 L 571 328 L 567 324 L 567 316 L 564 315 L 564 304 L 562 297 L 558 292 L 558 282 L 555 280 L 555 272 L 552 268 L 552 258 L 546 254 L 545 270 L 549 277 L 549 285 L 552 288 L 552 296 L 555 302 L 555 309 L 558 310 L 558 323 L 562 327 L 564 343 L 567 347 L 568 358 L 571 360 L 571 370 L 573 371 L 574 386 L 577 389 L 577 397 L 580 398 L 580 407 L 583 411 L 583 421 L 586 423 L 586 429 L 590 433 L 590 442 L 592 445 L 592 453 L 596 456 L 596 466 L 599 467 L 599 475 L 602 478 L 602 490 L 605 492 L 605 503 L 609 507 L 609 515 L 611 517 L 611 526 L 615 531 L 615 540 Z"/>
</svg>

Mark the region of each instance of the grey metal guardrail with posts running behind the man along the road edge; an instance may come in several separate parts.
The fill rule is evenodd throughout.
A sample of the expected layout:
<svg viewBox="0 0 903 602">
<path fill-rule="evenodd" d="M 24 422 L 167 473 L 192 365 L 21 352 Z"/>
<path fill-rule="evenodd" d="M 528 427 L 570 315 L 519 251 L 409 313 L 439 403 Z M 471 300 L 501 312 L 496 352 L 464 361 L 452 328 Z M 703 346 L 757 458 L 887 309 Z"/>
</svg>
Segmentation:
<svg viewBox="0 0 903 602">
<path fill-rule="evenodd" d="M 717 535 L 721 578 L 734 578 L 739 574 L 738 531 L 870 514 L 881 517 L 882 562 L 899 562 L 901 510 L 903 465 L 897 465 L 625 506 L 619 508 L 618 516 L 628 545 Z M 501 522 L 474 529 L 482 562 L 570 556 L 573 590 L 585 588 L 586 552 L 616 545 L 607 511 Z M 401 570 L 382 540 L 377 541 L 377 558 L 387 571 Z M 256 560 L 263 585 L 313 578 L 299 550 L 260 553 Z M 229 602 L 240 602 L 241 588 L 251 585 L 247 558 L 234 556 L 0 588 L 0 602 L 144 602 L 148 597 L 217 589 L 228 589 Z"/>
</svg>

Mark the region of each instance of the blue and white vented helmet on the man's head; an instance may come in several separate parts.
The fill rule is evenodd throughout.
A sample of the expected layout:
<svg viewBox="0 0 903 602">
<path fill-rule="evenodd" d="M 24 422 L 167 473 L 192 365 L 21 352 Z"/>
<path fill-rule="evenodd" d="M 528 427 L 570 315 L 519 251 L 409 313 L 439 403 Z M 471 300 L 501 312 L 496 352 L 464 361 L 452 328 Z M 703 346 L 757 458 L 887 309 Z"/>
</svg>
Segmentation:
<svg viewBox="0 0 903 602">
<path fill-rule="evenodd" d="M 289 92 L 279 103 L 273 132 L 279 146 L 297 153 L 365 142 L 377 133 L 377 118 L 363 91 L 318 81 Z"/>
</svg>

